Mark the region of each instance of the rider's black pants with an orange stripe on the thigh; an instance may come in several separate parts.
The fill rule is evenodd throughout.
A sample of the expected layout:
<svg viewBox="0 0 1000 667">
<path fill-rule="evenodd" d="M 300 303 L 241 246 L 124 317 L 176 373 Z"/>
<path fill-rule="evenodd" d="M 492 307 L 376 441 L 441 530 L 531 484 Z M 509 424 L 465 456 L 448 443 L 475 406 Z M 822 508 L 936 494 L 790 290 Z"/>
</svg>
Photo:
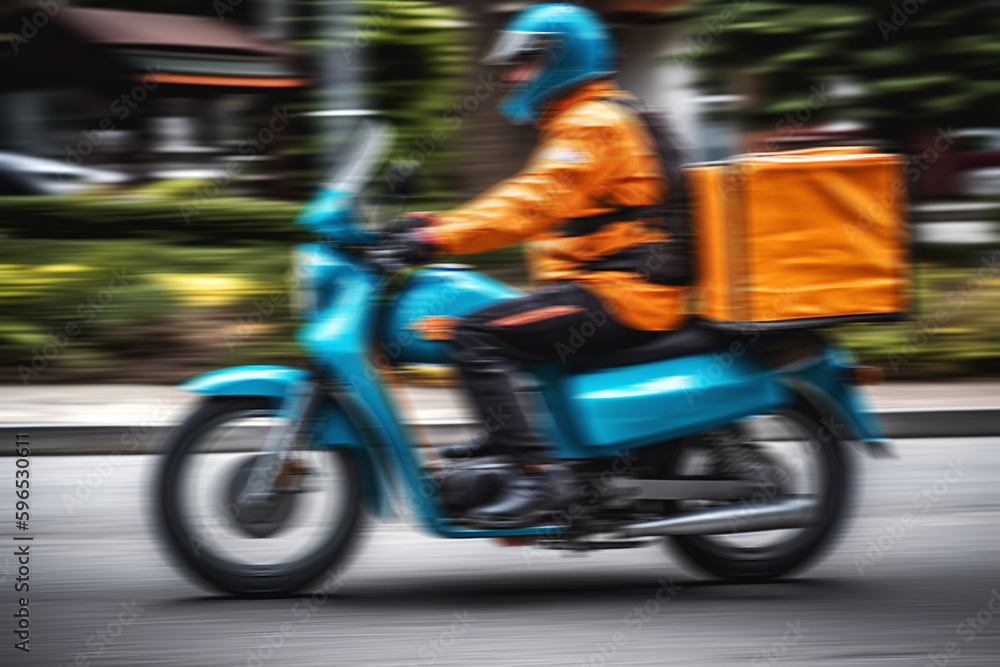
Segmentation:
<svg viewBox="0 0 1000 667">
<path fill-rule="evenodd" d="M 614 320 L 589 292 L 572 283 L 488 306 L 455 332 L 455 360 L 482 417 L 478 442 L 489 454 L 522 465 L 547 460 L 525 416 L 515 373 L 526 363 L 562 361 L 631 347 L 656 332 Z M 485 442 L 484 442 L 485 439 Z"/>
</svg>

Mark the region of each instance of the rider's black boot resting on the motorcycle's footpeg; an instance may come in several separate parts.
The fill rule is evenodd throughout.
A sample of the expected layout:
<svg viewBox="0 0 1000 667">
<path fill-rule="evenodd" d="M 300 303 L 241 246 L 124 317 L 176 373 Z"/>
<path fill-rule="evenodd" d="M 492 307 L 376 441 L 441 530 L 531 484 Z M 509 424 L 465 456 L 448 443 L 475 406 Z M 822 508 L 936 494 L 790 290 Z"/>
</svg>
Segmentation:
<svg viewBox="0 0 1000 667">
<path fill-rule="evenodd" d="M 500 497 L 467 512 L 462 523 L 475 528 L 524 528 L 537 525 L 579 498 L 580 483 L 565 463 L 531 466 Z"/>
</svg>

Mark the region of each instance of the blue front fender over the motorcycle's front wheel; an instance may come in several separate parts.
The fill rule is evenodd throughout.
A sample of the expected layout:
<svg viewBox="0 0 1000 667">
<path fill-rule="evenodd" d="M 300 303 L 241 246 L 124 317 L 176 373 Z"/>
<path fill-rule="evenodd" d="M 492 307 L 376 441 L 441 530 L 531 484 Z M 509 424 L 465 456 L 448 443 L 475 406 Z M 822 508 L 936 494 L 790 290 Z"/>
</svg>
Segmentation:
<svg viewBox="0 0 1000 667">
<path fill-rule="evenodd" d="M 209 371 L 177 388 L 206 396 L 265 396 L 280 408 L 287 405 L 289 397 L 298 393 L 303 385 L 312 381 L 312 371 L 304 368 L 262 364 Z M 332 397 L 323 402 L 322 424 L 318 447 L 346 447 L 349 450 L 361 477 L 365 508 L 373 516 L 379 516 L 386 507 L 385 486 L 376 464 L 377 457 L 368 448 L 361 431 Z"/>
</svg>

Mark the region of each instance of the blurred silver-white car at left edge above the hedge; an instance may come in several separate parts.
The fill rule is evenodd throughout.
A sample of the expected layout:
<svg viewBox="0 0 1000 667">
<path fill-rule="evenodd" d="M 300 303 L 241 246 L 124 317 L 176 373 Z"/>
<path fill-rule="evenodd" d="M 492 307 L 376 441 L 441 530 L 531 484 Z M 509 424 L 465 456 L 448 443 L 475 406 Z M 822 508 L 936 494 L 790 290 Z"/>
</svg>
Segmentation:
<svg viewBox="0 0 1000 667">
<path fill-rule="evenodd" d="M 78 167 L 45 158 L 0 153 L 0 194 L 62 195 L 90 185 L 123 183 L 129 176 L 106 169 Z"/>
</svg>

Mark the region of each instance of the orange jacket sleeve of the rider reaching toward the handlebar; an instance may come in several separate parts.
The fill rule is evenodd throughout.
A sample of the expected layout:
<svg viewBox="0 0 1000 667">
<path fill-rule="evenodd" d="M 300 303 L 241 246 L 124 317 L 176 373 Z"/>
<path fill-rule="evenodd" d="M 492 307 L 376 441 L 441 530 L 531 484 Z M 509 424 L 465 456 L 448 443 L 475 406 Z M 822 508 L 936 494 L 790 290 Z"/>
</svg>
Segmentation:
<svg viewBox="0 0 1000 667">
<path fill-rule="evenodd" d="M 547 132 L 514 176 L 442 213 L 430 228 L 440 254 L 486 252 L 528 240 L 588 208 L 591 187 L 608 170 L 620 139 L 616 124 L 573 114 Z"/>
</svg>

